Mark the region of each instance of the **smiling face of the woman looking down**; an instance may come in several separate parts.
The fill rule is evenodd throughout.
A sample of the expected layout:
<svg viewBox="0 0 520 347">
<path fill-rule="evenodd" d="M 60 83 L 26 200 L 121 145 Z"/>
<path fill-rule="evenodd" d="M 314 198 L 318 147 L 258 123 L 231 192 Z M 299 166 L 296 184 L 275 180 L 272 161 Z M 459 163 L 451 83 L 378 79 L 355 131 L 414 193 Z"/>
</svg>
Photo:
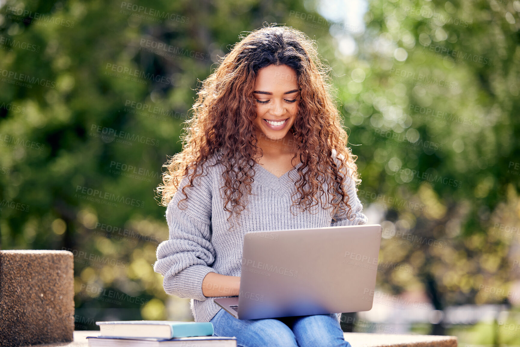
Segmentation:
<svg viewBox="0 0 520 347">
<path fill-rule="evenodd" d="M 259 146 L 263 139 L 278 140 L 288 136 L 298 113 L 300 91 L 297 81 L 296 72 L 287 65 L 269 65 L 258 70 L 253 96 Z"/>
</svg>

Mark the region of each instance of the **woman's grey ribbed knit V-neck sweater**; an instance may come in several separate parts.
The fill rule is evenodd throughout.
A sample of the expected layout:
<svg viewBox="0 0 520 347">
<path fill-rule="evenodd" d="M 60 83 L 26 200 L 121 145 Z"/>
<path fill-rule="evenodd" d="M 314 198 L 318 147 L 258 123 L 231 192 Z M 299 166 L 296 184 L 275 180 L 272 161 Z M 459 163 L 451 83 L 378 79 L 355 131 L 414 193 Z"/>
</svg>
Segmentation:
<svg viewBox="0 0 520 347">
<path fill-rule="evenodd" d="M 336 156 L 335 151 L 333 156 Z M 335 161 L 339 165 L 337 157 Z M 215 156 L 207 162 L 214 164 Z M 296 168 L 301 165 L 298 163 Z M 191 299 L 190 306 L 196 322 L 209 322 L 220 310 L 213 302 L 214 298 L 202 294 L 204 276 L 209 272 L 240 276 L 245 233 L 358 225 L 367 222 L 356 187 L 350 178 L 347 177 L 345 183 L 348 186 L 349 204 L 354 219 L 349 221 L 346 214 L 339 210 L 335 215 L 337 221 L 332 223 L 332 209 L 323 209 L 320 204 L 313 208 L 315 214 L 304 212 L 297 205 L 292 207 L 295 215 L 291 213 L 291 195 L 296 191 L 294 182 L 298 178 L 295 169 L 277 177 L 258 164 L 254 166 L 252 195 L 248 197 L 248 205 L 239 216 L 240 225 L 236 225 L 234 231 L 228 232 L 229 213 L 224 211 L 224 200 L 219 197 L 219 188 L 224 186 L 223 168 L 222 164 L 212 168 L 204 165 L 204 174 L 207 172 L 207 176 L 197 177 L 193 182 L 194 187 L 185 189 L 188 199 L 180 203 L 183 209 L 177 207 L 177 202 L 185 196 L 180 189 L 176 192 L 166 208 L 170 239 L 163 241 L 157 248 L 157 262 L 153 267 L 155 272 L 164 276 L 166 293 Z M 185 176 L 179 187 L 184 187 L 187 183 L 189 179 Z M 324 200 L 324 196 L 322 199 Z M 336 199 L 335 201 L 339 201 L 339 198 Z M 327 203 L 326 206 L 330 204 Z"/>
</svg>

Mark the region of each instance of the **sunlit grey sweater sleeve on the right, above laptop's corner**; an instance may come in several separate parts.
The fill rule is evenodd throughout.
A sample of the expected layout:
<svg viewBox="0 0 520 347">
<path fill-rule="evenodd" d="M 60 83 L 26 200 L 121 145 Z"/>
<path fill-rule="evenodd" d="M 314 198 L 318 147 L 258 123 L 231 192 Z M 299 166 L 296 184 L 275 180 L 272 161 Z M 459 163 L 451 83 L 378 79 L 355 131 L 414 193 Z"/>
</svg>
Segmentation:
<svg viewBox="0 0 520 347">
<path fill-rule="evenodd" d="M 335 151 L 334 151 L 335 152 Z M 340 164 L 339 159 L 336 158 L 337 165 Z M 346 185 L 347 195 L 348 195 L 348 204 L 352 210 L 349 211 L 344 202 L 340 203 L 339 209 L 334 214 L 334 218 L 336 222 L 331 220 L 330 226 L 347 226 L 347 225 L 360 225 L 367 223 L 367 216 L 363 214 L 363 205 L 357 196 L 357 188 L 354 180 L 350 177 L 350 173 L 352 172 L 350 168 L 347 168 L 349 176 L 345 178 L 344 185 Z M 342 174 L 345 174 L 345 168 L 342 169 Z M 338 198 L 340 200 L 340 198 Z M 343 207 L 345 211 L 341 209 Z"/>
</svg>

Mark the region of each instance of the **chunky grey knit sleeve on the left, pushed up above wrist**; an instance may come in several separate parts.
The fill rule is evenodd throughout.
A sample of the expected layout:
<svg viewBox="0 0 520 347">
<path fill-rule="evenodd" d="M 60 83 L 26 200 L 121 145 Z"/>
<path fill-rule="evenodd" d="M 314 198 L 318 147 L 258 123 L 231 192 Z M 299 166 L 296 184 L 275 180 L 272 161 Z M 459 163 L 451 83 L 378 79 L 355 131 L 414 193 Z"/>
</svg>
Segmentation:
<svg viewBox="0 0 520 347">
<path fill-rule="evenodd" d="M 215 250 L 211 238 L 211 177 L 200 176 L 194 179 L 194 187 L 186 187 L 188 199 L 181 191 L 189 183 L 185 176 L 179 190 L 166 208 L 166 221 L 170 239 L 161 242 L 157 248 L 157 262 L 153 269 L 164 276 L 163 286 L 168 294 L 180 298 L 204 301 L 202 280 L 215 272 Z"/>
</svg>

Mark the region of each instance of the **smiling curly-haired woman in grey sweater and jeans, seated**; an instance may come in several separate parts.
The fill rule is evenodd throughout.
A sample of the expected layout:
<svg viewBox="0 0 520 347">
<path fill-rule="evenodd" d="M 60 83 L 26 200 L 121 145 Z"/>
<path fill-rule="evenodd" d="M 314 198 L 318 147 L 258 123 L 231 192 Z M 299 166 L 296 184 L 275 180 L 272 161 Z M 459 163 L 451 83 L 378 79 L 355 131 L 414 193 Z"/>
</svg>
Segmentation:
<svg viewBox="0 0 520 347">
<path fill-rule="evenodd" d="M 239 294 L 246 232 L 367 221 L 327 72 L 300 31 L 243 37 L 203 82 L 184 150 L 165 165 L 170 239 L 154 269 L 168 294 L 192 299 L 196 322 L 239 346 L 349 346 L 339 314 L 241 320 L 213 302 Z"/>
</svg>

